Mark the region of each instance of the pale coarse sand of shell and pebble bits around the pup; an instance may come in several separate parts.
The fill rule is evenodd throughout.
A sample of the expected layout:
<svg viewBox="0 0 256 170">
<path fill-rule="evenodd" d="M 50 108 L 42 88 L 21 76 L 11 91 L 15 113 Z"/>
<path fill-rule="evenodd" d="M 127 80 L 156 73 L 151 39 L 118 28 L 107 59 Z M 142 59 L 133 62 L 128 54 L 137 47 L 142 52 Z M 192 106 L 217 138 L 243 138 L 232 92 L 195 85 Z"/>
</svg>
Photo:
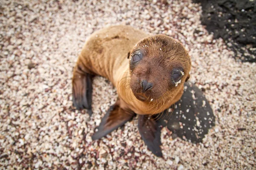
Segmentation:
<svg viewBox="0 0 256 170">
<path fill-rule="evenodd" d="M 0 169 L 254 169 L 256 63 L 236 61 L 222 39 L 208 34 L 199 4 L 167 2 L 1 0 Z M 93 31 L 117 24 L 185 45 L 192 59 L 190 81 L 204 89 L 215 115 L 203 142 L 172 139 L 163 127 L 158 158 L 142 141 L 137 117 L 92 141 L 116 90 L 96 77 L 93 115 L 75 110 L 73 66 Z"/>
</svg>

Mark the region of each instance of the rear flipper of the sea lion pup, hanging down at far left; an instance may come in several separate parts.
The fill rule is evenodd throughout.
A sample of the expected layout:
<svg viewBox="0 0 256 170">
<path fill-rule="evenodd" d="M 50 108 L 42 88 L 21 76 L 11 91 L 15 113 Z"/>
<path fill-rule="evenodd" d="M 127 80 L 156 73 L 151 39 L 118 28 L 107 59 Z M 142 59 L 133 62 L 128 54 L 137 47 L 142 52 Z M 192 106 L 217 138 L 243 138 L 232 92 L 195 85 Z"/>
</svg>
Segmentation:
<svg viewBox="0 0 256 170">
<path fill-rule="evenodd" d="M 77 109 L 88 109 L 88 113 L 92 115 L 92 92 L 93 92 L 93 75 L 82 70 L 76 65 L 73 72 L 73 106 Z"/>
</svg>

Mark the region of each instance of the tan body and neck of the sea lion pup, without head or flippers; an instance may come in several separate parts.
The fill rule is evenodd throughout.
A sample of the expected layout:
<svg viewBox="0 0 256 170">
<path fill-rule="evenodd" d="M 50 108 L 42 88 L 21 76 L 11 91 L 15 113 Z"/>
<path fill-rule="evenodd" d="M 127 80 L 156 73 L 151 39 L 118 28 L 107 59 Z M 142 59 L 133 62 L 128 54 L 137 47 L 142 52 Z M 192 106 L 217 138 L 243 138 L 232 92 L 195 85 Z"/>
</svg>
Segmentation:
<svg viewBox="0 0 256 170">
<path fill-rule="evenodd" d="M 163 102 L 154 99 L 150 102 L 142 102 L 133 95 L 131 88 L 127 88 L 132 74 L 127 53 L 136 47 L 138 42 L 149 36 L 130 26 L 111 26 L 95 31 L 85 43 L 76 67 L 89 74 L 109 79 L 117 88 L 122 108 L 143 115 L 160 113 L 180 99 L 183 85 L 175 90 L 173 98 Z M 148 47 L 145 47 L 145 51 L 146 48 Z"/>
</svg>

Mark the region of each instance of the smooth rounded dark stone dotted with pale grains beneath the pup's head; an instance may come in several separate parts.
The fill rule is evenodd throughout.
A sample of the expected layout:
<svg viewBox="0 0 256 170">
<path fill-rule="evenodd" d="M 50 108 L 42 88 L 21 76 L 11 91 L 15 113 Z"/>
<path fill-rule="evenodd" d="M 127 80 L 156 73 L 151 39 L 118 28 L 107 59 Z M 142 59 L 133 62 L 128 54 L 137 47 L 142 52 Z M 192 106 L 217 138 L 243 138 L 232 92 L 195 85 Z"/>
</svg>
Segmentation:
<svg viewBox="0 0 256 170">
<path fill-rule="evenodd" d="M 166 116 L 157 122 L 172 131 L 173 139 L 180 137 L 192 143 L 202 142 L 208 130 L 215 125 L 215 116 L 209 102 L 191 82 L 185 82 L 182 97 L 175 105 L 163 111 L 163 115 L 165 113 Z"/>
</svg>

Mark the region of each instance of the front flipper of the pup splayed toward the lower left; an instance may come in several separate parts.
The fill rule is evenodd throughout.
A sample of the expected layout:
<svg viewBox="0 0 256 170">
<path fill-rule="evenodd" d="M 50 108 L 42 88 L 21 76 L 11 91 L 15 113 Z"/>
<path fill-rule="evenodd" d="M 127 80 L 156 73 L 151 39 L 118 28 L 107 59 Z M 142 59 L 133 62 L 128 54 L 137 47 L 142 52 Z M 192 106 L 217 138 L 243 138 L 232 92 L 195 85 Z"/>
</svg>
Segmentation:
<svg viewBox="0 0 256 170">
<path fill-rule="evenodd" d="M 106 136 L 108 133 L 111 133 L 113 130 L 131 120 L 134 115 L 134 112 L 120 108 L 118 100 L 115 105 L 109 108 L 105 116 L 102 118 L 99 127 L 97 127 L 98 131 L 93 134 L 92 139 L 96 140 Z"/>
</svg>

